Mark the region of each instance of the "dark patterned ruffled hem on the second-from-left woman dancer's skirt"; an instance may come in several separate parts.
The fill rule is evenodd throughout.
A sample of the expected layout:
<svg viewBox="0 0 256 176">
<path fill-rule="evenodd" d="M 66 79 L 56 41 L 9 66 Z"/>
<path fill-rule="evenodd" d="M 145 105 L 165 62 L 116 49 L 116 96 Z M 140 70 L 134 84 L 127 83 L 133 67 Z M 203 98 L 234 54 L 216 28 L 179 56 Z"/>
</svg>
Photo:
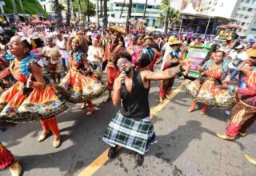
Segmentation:
<svg viewBox="0 0 256 176">
<path fill-rule="evenodd" d="M 62 97 L 66 99 L 67 102 L 72 103 L 78 103 L 78 102 L 85 102 L 86 100 L 90 100 L 92 98 L 96 98 L 100 96 L 107 88 L 106 84 L 102 84 L 100 89 L 92 91 L 90 94 L 78 96 L 76 98 L 72 97 L 71 94 L 74 94 L 75 92 L 73 90 L 66 90 L 63 86 L 55 86 L 56 90 L 60 94 L 62 94 Z"/>
</svg>

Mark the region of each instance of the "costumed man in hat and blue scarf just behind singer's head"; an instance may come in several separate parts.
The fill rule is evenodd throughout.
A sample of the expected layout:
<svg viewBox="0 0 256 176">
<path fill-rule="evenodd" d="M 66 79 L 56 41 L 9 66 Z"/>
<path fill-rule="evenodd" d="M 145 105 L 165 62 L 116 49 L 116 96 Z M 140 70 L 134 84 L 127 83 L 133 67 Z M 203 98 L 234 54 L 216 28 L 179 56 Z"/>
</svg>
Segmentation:
<svg viewBox="0 0 256 176">
<path fill-rule="evenodd" d="M 138 70 L 154 71 L 154 63 L 161 56 L 161 54 L 152 48 L 153 38 L 149 35 L 143 39 L 144 47 L 138 56 L 136 63 Z"/>
</svg>

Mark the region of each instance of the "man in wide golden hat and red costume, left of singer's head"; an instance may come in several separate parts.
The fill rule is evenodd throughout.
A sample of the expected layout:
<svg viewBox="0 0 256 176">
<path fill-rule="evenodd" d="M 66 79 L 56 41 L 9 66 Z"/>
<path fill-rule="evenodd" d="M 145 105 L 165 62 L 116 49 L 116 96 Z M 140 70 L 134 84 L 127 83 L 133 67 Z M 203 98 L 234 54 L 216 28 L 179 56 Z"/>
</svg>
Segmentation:
<svg viewBox="0 0 256 176">
<path fill-rule="evenodd" d="M 112 43 L 106 44 L 103 62 L 107 61 L 107 85 L 108 85 L 108 96 L 104 102 L 108 102 L 111 99 L 111 91 L 113 90 L 114 79 L 120 74 L 118 68 L 114 66 L 114 56 L 120 53 L 122 50 L 126 50 L 122 43 L 119 42 L 119 38 L 122 34 L 126 34 L 126 31 L 120 26 L 110 26 L 109 31 L 113 32 Z"/>
</svg>

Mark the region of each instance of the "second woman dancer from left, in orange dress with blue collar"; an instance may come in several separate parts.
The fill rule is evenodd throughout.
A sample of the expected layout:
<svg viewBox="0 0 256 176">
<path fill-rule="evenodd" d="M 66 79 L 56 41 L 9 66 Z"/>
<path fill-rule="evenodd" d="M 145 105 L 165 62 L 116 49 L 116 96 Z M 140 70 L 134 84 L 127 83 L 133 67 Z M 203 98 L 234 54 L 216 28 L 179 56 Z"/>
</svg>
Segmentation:
<svg viewBox="0 0 256 176">
<path fill-rule="evenodd" d="M 91 98 L 97 97 L 106 89 L 106 86 L 90 72 L 90 66 L 82 52 L 85 45 L 82 36 L 70 38 L 70 70 L 61 83 L 58 90 L 61 90 L 68 102 L 83 102 L 83 106 L 89 104 L 88 115 L 93 113 L 94 106 Z"/>
</svg>

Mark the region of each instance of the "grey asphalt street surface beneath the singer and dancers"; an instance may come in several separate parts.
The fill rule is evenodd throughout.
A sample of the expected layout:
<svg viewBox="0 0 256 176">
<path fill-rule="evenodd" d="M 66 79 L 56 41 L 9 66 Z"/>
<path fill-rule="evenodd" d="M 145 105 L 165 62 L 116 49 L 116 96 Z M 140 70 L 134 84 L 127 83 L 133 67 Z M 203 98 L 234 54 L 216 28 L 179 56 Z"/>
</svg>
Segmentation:
<svg viewBox="0 0 256 176">
<path fill-rule="evenodd" d="M 174 89 L 184 80 L 176 78 Z M 150 107 L 158 105 L 158 85 L 150 90 Z M 94 114 L 87 116 L 81 104 L 58 116 L 62 146 L 53 147 L 53 136 L 38 142 L 42 129 L 39 122 L 8 127 L 0 134 L 0 141 L 22 164 L 22 175 L 78 175 L 94 162 L 109 146 L 102 135 L 119 107 L 112 102 L 102 103 L 106 93 L 93 102 Z M 188 113 L 190 98 L 181 90 L 152 118 L 158 143 L 146 153 L 143 166 L 135 166 L 134 153 L 121 149 L 116 158 L 104 163 L 94 175 L 186 175 L 186 176 L 255 176 L 256 166 L 246 161 L 243 154 L 256 156 L 256 126 L 250 127 L 246 137 L 225 141 L 215 134 L 224 132 L 230 122 L 225 110 L 209 109 Z M 199 108 L 202 108 L 200 105 Z M 0 172 L 10 175 L 9 170 Z"/>
</svg>

